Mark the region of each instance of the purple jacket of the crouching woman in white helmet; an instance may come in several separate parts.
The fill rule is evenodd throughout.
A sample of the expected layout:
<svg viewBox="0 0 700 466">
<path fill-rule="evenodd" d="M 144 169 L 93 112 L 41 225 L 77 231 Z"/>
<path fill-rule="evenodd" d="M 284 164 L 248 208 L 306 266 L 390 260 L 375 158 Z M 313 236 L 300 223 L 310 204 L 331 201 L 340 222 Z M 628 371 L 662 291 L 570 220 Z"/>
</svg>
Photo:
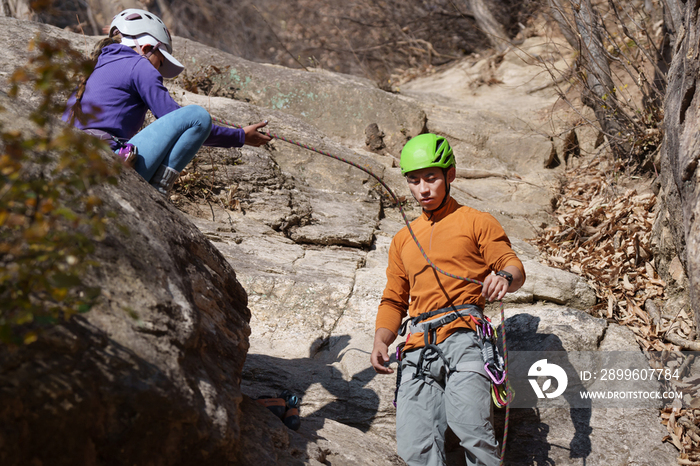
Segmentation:
<svg viewBox="0 0 700 466">
<path fill-rule="evenodd" d="M 73 105 L 75 95 L 68 99 L 63 121 L 70 120 Z M 129 140 L 141 129 L 149 109 L 160 118 L 178 108 L 163 85 L 163 77 L 145 57 L 125 45 L 111 44 L 102 49 L 83 94 L 83 113 L 96 118 L 86 126 L 76 119 L 75 126 Z M 244 142 L 242 129 L 213 125 L 204 145 L 241 147 Z"/>
</svg>

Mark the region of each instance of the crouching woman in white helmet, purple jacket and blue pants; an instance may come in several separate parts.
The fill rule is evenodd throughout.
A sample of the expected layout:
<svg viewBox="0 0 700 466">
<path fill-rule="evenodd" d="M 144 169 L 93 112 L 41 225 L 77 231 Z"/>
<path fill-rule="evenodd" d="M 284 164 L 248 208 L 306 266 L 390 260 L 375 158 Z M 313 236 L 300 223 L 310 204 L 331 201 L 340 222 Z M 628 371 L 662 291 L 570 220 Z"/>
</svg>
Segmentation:
<svg viewBox="0 0 700 466">
<path fill-rule="evenodd" d="M 95 53 L 95 69 L 68 100 L 63 120 L 109 141 L 115 151 L 135 146 L 134 168 L 164 195 L 202 145 L 258 147 L 270 140 L 257 131 L 266 121 L 243 129 L 215 126 L 204 108 L 173 100 L 163 78 L 184 67 L 153 13 L 132 8 L 116 15 Z M 138 132 L 149 109 L 157 120 Z"/>
</svg>

